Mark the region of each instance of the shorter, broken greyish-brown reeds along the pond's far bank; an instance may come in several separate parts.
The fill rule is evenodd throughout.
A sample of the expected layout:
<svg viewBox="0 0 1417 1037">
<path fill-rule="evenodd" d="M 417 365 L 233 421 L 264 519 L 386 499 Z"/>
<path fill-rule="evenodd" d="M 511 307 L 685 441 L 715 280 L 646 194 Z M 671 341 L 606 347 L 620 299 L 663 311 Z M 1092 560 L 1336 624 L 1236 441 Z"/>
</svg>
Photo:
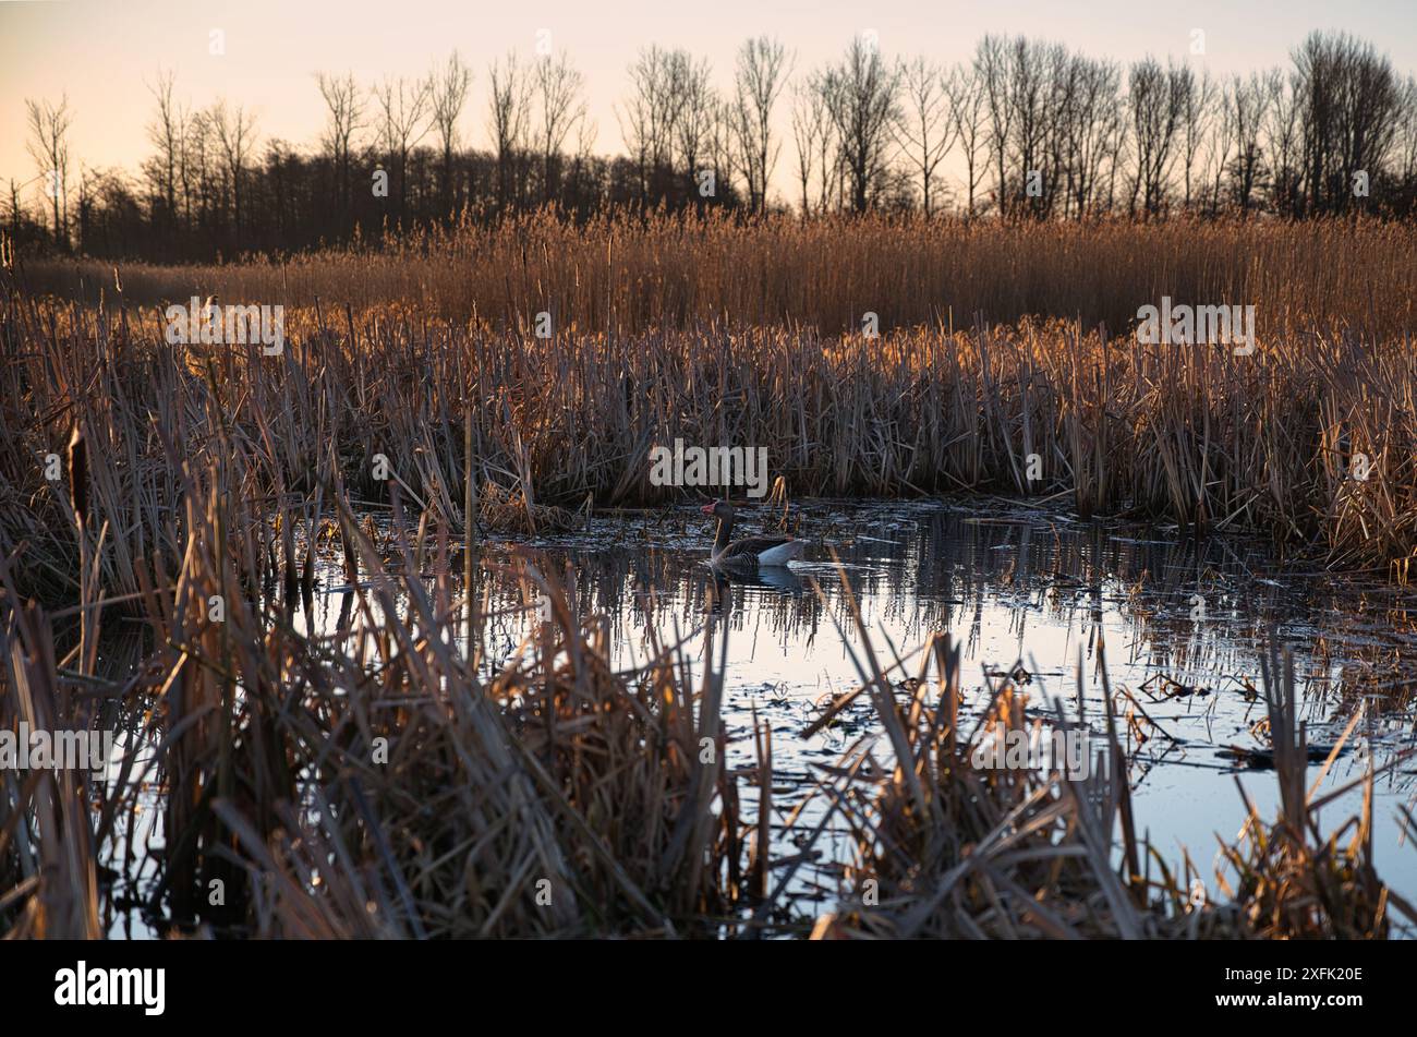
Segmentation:
<svg viewBox="0 0 1417 1037">
<path fill-rule="evenodd" d="M 1024 320 L 881 339 L 701 327 L 543 340 L 385 306 L 288 313 L 283 351 L 262 356 L 173 346 L 154 309 L 41 300 L 13 278 L 0 320 L 0 550 L 28 545 L 17 578 L 47 601 L 72 599 L 81 548 L 119 596 L 139 591 L 137 558 L 174 565 L 181 466 L 221 443 L 261 459 L 239 473 L 247 507 L 310 502 L 327 470 L 361 502 L 387 504 L 398 486 L 459 531 L 469 506 L 530 533 L 672 499 L 682 490 L 652 482 L 650 456 L 682 439 L 762 448 L 798 496 L 1067 499 L 1083 516 L 1263 530 L 1399 578 L 1417 545 L 1408 339 L 1309 333 L 1234 356 Z M 89 462 L 82 540 L 47 463 L 75 426 Z"/>
</svg>

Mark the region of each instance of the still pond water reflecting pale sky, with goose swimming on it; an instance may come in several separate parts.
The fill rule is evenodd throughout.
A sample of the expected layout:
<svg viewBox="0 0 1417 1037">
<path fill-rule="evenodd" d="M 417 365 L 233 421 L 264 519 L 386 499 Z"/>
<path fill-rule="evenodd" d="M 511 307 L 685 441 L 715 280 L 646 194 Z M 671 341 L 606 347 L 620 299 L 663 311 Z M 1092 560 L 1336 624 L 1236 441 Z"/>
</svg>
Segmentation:
<svg viewBox="0 0 1417 1037">
<path fill-rule="evenodd" d="M 747 509 L 740 528 L 777 528 L 781 517 Z M 949 633 L 964 653 L 966 708 L 982 711 L 990 684 L 1022 666 L 1030 707 L 1041 714 L 1061 698 L 1100 734 L 1105 659 L 1118 713 L 1138 718 L 1128 738 L 1138 834 L 1172 861 L 1187 850 L 1212 890 L 1216 836 L 1234 840 L 1246 816 L 1236 779 L 1261 816 L 1277 813 L 1275 776 L 1264 766 L 1268 741 L 1257 727 L 1265 718 L 1260 660 L 1271 638 L 1292 653 L 1311 745 L 1340 741 L 1355 711 L 1362 714 L 1323 788 L 1360 778 L 1370 762 L 1383 768 L 1414 744 L 1411 591 L 1282 564 L 1264 541 L 1080 521 L 978 499 L 811 500 L 792 506 L 796 534 L 812 544 L 802 562 L 724 584 L 707 565 L 707 523 L 687 506 L 615 513 L 571 534 L 489 538 L 480 554 L 493 562 L 531 560 L 565 579 L 575 609 L 601 618 L 626 669 L 645 660 L 649 645 L 680 643 L 697 681 L 706 626 L 726 636 L 728 762 L 752 765 L 752 718 L 767 720 L 772 822 L 784 840 L 801 842 L 801 829 L 785 832 L 782 823 L 816 768 L 876 730 L 863 696 L 840 722 L 803 734 L 835 694 L 860 684 L 853 657 L 863 645 L 843 575 L 883 669 L 931 632 Z M 536 620 L 526 585 L 496 571 L 479 577 L 486 581 L 479 596 L 496 616 L 485 635 L 487 667 L 510 657 Z M 334 622 L 344 596 L 337 570 L 326 575 L 327 592 L 307 616 L 315 628 Z M 1321 768 L 1318 756 L 1309 782 Z M 1417 895 L 1417 847 L 1403 844 L 1397 808 L 1411 805 L 1414 789 L 1410 759 L 1376 778 L 1377 870 L 1408 898 Z M 750 792 L 745 812 L 751 800 Z M 1360 805 L 1359 786 L 1321 817 L 1336 826 Z M 796 892 L 829 902 L 837 891 L 832 858 L 847 849 L 830 833 L 815 849 L 823 867 L 815 876 L 805 870 Z M 794 844 L 778 850 L 791 856 Z"/>
</svg>

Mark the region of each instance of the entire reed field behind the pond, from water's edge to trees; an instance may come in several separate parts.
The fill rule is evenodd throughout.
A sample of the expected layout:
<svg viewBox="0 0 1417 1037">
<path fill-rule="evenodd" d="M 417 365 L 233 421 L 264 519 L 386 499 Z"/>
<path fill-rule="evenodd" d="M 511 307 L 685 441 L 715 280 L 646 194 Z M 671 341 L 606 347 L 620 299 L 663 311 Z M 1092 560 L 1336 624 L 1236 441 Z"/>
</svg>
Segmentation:
<svg viewBox="0 0 1417 1037">
<path fill-rule="evenodd" d="M 143 415 L 217 394 L 235 426 L 271 424 L 289 489 L 324 455 L 359 484 L 385 453 L 453 523 L 470 424 L 473 482 L 544 504 L 653 500 L 648 452 L 683 436 L 767 448 L 795 494 L 1066 496 L 1399 574 L 1414 547 L 1401 222 L 543 214 L 283 262 L 21 264 L 7 283 L 6 334 L 27 346 L 6 373 L 10 536 L 52 527 L 27 459 L 81 415 L 130 460 L 99 516 L 153 528 Z M 163 307 L 210 295 L 283 305 L 288 348 L 166 346 Z M 1255 351 L 1139 343 L 1138 309 L 1163 296 L 1253 306 Z"/>
</svg>

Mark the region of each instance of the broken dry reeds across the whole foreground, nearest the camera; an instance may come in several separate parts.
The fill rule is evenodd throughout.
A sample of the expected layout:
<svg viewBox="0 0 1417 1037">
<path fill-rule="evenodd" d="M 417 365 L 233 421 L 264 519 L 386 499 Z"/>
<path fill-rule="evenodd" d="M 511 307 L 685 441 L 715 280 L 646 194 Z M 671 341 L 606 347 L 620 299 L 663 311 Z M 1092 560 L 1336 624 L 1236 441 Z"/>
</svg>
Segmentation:
<svg viewBox="0 0 1417 1037">
<path fill-rule="evenodd" d="M 238 449 L 230 468 L 248 460 Z M 496 616 L 475 601 L 469 615 L 453 595 L 446 531 L 415 538 L 395 492 L 385 558 L 332 483 L 329 518 L 281 511 L 307 534 L 334 523 L 326 550 L 356 578 L 334 629 L 302 633 L 279 591 L 241 594 L 248 557 L 225 533 L 235 513 L 222 477 L 215 465 L 184 475 L 187 551 L 176 572 L 145 571 L 152 636 L 128 666 L 85 652 L 102 636 L 101 591 L 55 613 L 20 605 L 0 558 L 0 722 L 86 730 L 115 710 L 130 717 L 128 751 L 102 779 L 6 772 L 3 935 L 98 938 L 129 914 L 164 936 L 419 939 L 1383 938 L 1389 914 L 1417 921 L 1373 873 L 1370 798 L 1321 836 L 1316 812 L 1336 793 L 1304 793 L 1288 669 L 1284 691 L 1268 691 L 1265 673 L 1284 812 L 1272 824 L 1251 812 L 1226 844 L 1233 873 L 1217 871 L 1226 895 L 1197 900 L 1189 861 L 1169 867 L 1138 844 L 1111 713 L 1097 779 L 973 769 L 981 730 L 1041 721 L 1024 721 L 1009 683 L 966 721 L 942 633 L 900 701 L 890 677 L 905 666 L 877 657 L 843 584 L 847 616 L 833 620 L 857 623 L 863 680 L 833 710 L 864 696 L 881 734 L 820 768 L 813 796 L 830 809 L 813 824 L 792 819 L 796 853 L 774 860 L 771 732 L 755 725 L 754 764 L 726 765 L 730 625 L 713 612 L 699 674 L 684 646 L 659 643 L 616 672 L 604 620 L 523 562 L 502 575 L 521 581 L 529 605 L 546 602 L 540 622 L 487 667 Z M 428 572 L 414 575 L 425 551 Z M 296 584 L 307 615 L 310 591 Z M 230 608 L 213 619 L 222 592 Z M 750 789 L 757 809 L 741 806 Z M 146 834 L 145 812 L 160 819 Z M 843 907 L 813 918 L 792 877 L 835 817 L 857 853 Z"/>
</svg>

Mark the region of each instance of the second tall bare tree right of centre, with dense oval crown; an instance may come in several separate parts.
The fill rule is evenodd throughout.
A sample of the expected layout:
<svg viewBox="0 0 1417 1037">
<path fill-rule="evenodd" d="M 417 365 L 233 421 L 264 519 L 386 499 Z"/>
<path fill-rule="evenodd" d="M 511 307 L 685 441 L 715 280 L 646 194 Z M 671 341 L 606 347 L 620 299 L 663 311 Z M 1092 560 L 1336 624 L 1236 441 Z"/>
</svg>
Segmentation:
<svg viewBox="0 0 1417 1037">
<path fill-rule="evenodd" d="M 828 68 L 819 82 L 836 130 L 852 210 L 864 212 L 887 171 L 886 146 L 898 110 L 898 72 L 886 67 L 873 44 L 856 37 L 842 64 Z"/>
</svg>

